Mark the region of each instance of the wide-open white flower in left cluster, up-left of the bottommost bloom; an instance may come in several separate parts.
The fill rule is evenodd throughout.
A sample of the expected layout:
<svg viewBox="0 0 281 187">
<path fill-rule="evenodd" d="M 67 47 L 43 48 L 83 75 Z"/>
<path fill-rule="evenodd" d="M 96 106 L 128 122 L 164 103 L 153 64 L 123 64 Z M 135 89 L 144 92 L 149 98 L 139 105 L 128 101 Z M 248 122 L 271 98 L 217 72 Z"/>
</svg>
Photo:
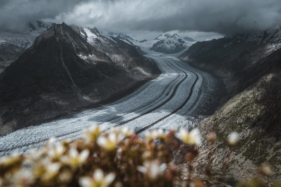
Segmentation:
<svg viewBox="0 0 281 187">
<path fill-rule="evenodd" d="M 85 149 L 82 152 L 78 153 L 78 151 L 75 148 L 71 148 L 69 150 L 68 156 L 61 157 L 61 162 L 65 164 L 69 164 L 71 166 L 79 166 L 87 160 L 89 154 L 90 151 L 88 149 Z"/>
</svg>

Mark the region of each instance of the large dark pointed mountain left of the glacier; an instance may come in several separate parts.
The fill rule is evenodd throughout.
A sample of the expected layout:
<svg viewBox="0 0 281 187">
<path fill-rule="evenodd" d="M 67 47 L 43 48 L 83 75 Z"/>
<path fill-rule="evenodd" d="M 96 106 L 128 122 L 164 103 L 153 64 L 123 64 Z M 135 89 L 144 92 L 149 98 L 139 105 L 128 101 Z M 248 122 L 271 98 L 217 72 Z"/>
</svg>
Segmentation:
<svg viewBox="0 0 281 187">
<path fill-rule="evenodd" d="M 86 31 L 88 41 L 65 23 L 52 26 L 1 73 L 0 135 L 120 95 L 151 75 L 151 64 L 136 48 L 94 29 L 116 45 L 112 52 L 119 48 L 110 57 Z"/>
</svg>

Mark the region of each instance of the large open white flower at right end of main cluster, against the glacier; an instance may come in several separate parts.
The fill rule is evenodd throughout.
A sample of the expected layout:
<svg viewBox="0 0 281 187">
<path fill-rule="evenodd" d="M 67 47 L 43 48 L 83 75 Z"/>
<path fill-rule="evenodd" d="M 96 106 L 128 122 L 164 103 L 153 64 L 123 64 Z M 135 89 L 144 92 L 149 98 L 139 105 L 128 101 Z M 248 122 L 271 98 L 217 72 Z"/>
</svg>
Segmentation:
<svg viewBox="0 0 281 187">
<path fill-rule="evenodd" d="M 178 138 L 189 145 L 200 145 L 201 144 L 201 135 L 197 128 L 193 129 L 190 133 L 187 132 L 184 128 L 178 133 Z"/>
</svg>

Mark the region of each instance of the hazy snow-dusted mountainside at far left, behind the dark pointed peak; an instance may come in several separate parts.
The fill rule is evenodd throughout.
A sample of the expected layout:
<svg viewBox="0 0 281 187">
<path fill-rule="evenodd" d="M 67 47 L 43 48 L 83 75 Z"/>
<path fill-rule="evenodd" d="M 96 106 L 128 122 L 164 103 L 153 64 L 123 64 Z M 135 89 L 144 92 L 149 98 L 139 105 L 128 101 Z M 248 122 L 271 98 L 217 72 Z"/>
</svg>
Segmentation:
<svg viewBox="0 0 281 187">
<path fill-rule="evenodd" d="M 28 29 L 22 32 L 0 30 L 0 73 L 30 47 L 38 35 L 53 25 L 56 24 L 33 21 L 28 24 Z"/>
</svg>

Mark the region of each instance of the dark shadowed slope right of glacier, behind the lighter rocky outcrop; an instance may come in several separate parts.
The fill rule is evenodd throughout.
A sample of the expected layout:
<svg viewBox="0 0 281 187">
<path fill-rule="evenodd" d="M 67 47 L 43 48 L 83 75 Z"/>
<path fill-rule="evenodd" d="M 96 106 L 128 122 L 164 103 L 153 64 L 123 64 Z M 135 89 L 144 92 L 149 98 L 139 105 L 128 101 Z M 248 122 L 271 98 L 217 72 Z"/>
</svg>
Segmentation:
<svg viewBox="0 0 281 187">
<path fill-rule="evenodd" d="M 229 99 L 253 83 L 243 83 L 244 86 L 239 88 L 241 82 L 237 80 L 244 71 L 255 67 L 257 61 L 280 47 L 281 31 L 272 31 L 196 42 L 179 58 L 224 78 L 229 92 L 226 99 Z M 256 67 L 262 70 L 261 66 Z"/>
</svg>

